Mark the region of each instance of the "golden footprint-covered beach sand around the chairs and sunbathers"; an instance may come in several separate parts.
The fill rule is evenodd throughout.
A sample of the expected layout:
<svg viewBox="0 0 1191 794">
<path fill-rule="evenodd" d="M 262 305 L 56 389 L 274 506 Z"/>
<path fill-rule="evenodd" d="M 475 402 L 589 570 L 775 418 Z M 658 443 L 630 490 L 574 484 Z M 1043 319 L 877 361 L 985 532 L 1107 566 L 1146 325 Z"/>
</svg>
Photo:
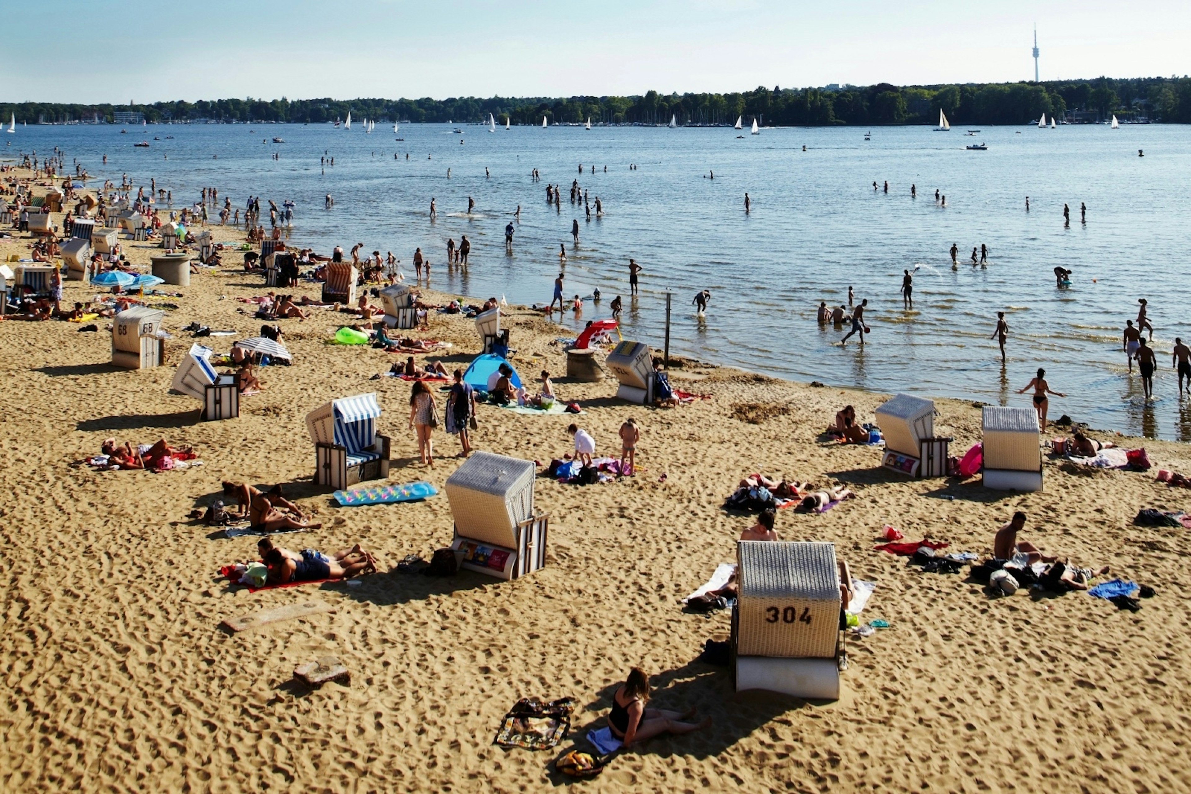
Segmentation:
<svg viewBox="0 0 1191 794">
<path fill-rule="evenodd" d="M 231 239 L 233 231 L 217 235 Z M 0 240 L 0 258 L 14 252 L 27 256 L 24 235 Z M 136 262 L 149 252 L 131 244 Z M 169 394 L 191 344 L 179 329 L 197 320 L 256 335 L 261 321 L 238 313 L 245 305 L 235 299 L 266 288 L 237 271 L 238 260 L 231 254 L 224 270 L 194 276 L 179 289 L 185 298 L 163 299 L 179 308 L 167 314 L 175 338 L 157 369 L 113 368 L 104 321 L 99 333 L 56 320 L 0 323 L 5 790 L 544 790 L 567 780 L 553 771 L 554 758 L 604 724 L 632 665 L 653 675 L 654 705 L 697 707 L 715 726 L 615 757 L 584 783 L 590 790 L 1191 787 L 1185 531 L 1131 524 L 1139 508 L 1177 509 L 1191 493 L 1155 482 L 1153 471 L 1079 470 L 1048 458 L 1046 490 L 1025 495 L 986 490 L 978 477 L 906 480 L 877 468 L 878 449 L 821 437 L 843 404 L 868 421 L 881 395 L 681 362 L 672 381 L 710 399 L 630 406 L 612 398 L 611 377 L 562 377 L 565 355 L 551 342 L 566 333 L 513 308 L 506 325 L 520 374 L 531 380 L 549 369 L 585 413 L 481 406 L 475 446 L 545 463 L 570 449 L 566 427 L 576 421 L 599 452 L 615 454 L 617 427 L 635 417 L 642 470 L 590 487 L 538 480 L 536 505 L 550 514 L 548 564 L 525 579 L 400 574 L 405 555 L 429 558 L 450 543 L 445 495 L 332 506 L 311 484 L 304 418 L 332 398 L 376 392 L 380 431 L 394 445 L 391 481 L 441 488 L 460 463 L 457 442 L 436 431 L 444 457 L 423 468 L 406 427 L 410 385 L 369 380 L 404 356 L 325 344 L 339 315 L 323 310 L 305 323 L 281 321 L 294 365 L 260 370 L 266 390 L 243 399 L 238 419 L 198 421 L 197 401 Z M 67 282 L 66 302 L 95 292 Z M 312 285 L 293 292 L 317 296 Z M 431 313 L 419 336 L 453 343 L 449 368 L 466 367 L 479 349 L 470 320 L 459 315 Z M 233 338 L 206 344 L 225 352 Z M 869 345 L 869 355 L 897 352 Z M 979 439 L 979 409 L 936 406 L 937 434 L 953 436 L 952 454 L 962 454 Z M 1062 413 L 1061 400 L 1052 413 Z M 82 461 L 108 436 L 193 444 L 204 465 L 96 473 Z M 1185 445 L 1145 446 L 1155 468 L 1191 470 Z M 848 636 L 837 702 L 736 694 L 727 668 L 696 661 L 704 640 L 728 637 L 729 615 L 687 614 L 679 599 L 734 559 L 735 538 L 752 520 L 722 504 L 757 470 L 856 492 L 822 515 L 782 511 L 777 521 L 782 538 L 834 542 L 854 576 L 877 583 L 861 618 L 891 624 Z M 224 479 L 285 483 L 323 521 L 281 536 L 283 545 L 360 542 L 382 573 L 350 587 L 230 587 L 217 569 L 254 557 L 255 538 L 225 539 L 186 518 Z M 992 600 L 961 576 L 921 574 L 873 550 L 891 524 L 906 539 L 929 536 L 949 551 L 987 555 L 1015 509 L 1030 517 L 1023 539 L 1079 564 L 1110 565 L 1111 575 L 1155 587 L 1156 598 L 1136 614 L 1080 593 L 1023 589 Z M 235 636 L 219 627 L 311 598 L 332 611 Z M 292 682 L 295 665 L 329 654 L 347 664 L 350 684 L 308 690 Z M 578 699 L 570 738 L 557 750 L 493 745 L 501 717 L 523 696 Z"/>
</svg>

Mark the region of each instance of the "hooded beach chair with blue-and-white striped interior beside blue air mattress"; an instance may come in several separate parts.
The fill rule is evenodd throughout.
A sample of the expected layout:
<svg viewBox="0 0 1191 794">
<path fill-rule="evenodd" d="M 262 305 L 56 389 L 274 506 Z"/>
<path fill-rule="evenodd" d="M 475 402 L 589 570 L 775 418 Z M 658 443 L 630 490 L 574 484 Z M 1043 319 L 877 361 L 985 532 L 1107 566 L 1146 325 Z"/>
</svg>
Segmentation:
<svg viewBox="0 0 1191 794">
<path fill-rule="evenodd" d="M 376 394 L 331 400 L 306 414 L 314 442 L 314 483 L 342 490 L 388 477 L 389 439 L 376 432 Z"/>
</svg>

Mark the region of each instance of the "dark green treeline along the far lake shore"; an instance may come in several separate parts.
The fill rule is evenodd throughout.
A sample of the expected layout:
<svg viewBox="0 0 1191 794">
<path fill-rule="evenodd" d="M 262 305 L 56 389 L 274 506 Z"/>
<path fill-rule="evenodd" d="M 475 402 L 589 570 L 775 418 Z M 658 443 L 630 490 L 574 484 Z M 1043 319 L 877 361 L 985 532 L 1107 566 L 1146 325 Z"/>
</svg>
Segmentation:
<svg viewBox="0 0 1191 794">
<path fill-rule="evenodd" d="M 830 86 L 780 88 L 732 94 L 659 94 L 642 96 L 570 96 L 513 99 L 474 96 L 451 99 L 220 99 L 152 105 L 63 105 L 0 102 L 0 119 L 12 113 L 18 123 L 113 121 L 114 113 L 139 112 L 149 121 L 288 121 L 322 124 L 344 119 L 378 121 L 486 121 L 498 124 L 579 124 L 588 118 L 606 124 L 732 124 L 743 117 L 766 125 L 828 126 L 850 124 L 934 124 L 939 111 L 953 124 L 1023 124 L 1042 113 L 1060 119 L 1092 121 L 1116 114 L 1174 124 L 1191 123 L 1191 79 L 1135 77 L 964 86 Z"/>
</svg>

